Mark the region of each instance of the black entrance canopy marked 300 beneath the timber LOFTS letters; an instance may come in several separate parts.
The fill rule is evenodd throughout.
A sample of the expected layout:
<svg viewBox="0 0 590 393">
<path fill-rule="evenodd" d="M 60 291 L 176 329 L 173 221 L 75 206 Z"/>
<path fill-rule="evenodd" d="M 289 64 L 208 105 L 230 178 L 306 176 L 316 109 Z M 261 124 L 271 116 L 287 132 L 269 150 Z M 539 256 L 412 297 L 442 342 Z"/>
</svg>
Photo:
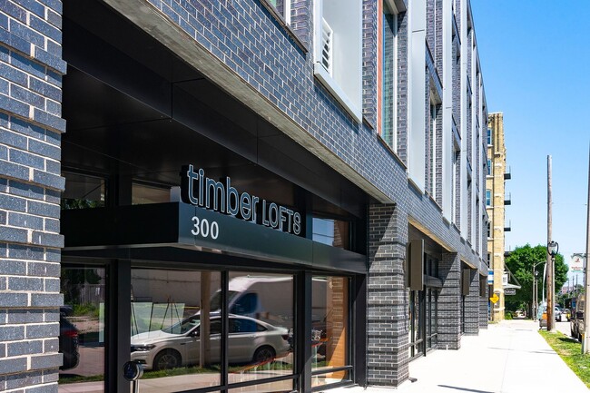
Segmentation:
<svg viewBox="0 0 590 393">
<path fill-rule="evenodd" d="M 192 217 L 207 221 L 207 237 L 192 234 Z M 149 250 L 152 258 L 174 260 L 187 251 L 205 251 L 312 269 L 367 272 L 365 255 L 182 202 L 62 211 L 62 229 L 66 255 L 139 257 Z"/>
</svg>

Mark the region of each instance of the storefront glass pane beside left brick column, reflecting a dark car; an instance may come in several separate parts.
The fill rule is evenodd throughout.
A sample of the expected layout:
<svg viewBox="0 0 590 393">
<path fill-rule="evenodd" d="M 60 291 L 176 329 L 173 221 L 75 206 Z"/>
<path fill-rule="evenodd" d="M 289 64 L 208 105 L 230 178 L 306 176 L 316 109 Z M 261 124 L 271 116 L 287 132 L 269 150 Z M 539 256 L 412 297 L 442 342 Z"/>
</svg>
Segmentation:
<svg viewBox="0 0 590 393">
<path fill-rule="evenodd" d="M 59 370 L 60 392 L 104 391 L 104 304 L 103 268 L 64 265 L 60 308 L 59 351 L 63 365 Z"/>
</svg>

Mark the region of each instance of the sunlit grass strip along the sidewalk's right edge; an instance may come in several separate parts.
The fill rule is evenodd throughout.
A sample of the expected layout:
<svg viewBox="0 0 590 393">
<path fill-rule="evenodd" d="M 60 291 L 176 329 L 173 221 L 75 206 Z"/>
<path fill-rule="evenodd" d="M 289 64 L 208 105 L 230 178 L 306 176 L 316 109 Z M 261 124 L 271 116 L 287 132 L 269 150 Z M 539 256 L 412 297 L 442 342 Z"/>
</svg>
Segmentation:
<svg viewBox="0 0 590 393">
<path fill-rule="evenodd" d="M 590 388 L 590 354 L 582 354 L 582 344 L 564 333 L 539 330 L 549 346 L 564 359 L 565 364 Z"/>
</svg>

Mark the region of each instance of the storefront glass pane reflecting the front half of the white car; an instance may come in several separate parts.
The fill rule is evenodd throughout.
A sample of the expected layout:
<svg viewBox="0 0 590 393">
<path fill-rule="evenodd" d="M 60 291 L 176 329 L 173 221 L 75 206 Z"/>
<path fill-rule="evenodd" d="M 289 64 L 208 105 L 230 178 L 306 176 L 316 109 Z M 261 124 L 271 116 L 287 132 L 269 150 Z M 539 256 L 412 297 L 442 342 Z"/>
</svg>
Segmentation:
<svg viewBox="0 0 590 393">
<path fill-rule="evenodd" d="M 211 297 L 219 272 L 132 270 L 131 359 L 143 363 L 143 392 L 221 383 L 221 315 Z"/>
</svg>

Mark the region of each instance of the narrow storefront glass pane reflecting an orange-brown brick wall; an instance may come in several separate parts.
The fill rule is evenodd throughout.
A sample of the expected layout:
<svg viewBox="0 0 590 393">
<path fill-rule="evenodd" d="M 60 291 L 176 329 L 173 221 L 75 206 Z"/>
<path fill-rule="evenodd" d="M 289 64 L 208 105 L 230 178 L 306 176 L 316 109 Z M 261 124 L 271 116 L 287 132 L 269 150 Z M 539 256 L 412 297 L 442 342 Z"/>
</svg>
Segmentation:
<svg viewBox="0 0 590 393">
<path fill-rule="evenodd" d="M 311 287 L 312 386 L 349 378 L 349 279 L 314 276 Z M 316 371 L 326 371 L 317 373 Z"/>
</svg>

